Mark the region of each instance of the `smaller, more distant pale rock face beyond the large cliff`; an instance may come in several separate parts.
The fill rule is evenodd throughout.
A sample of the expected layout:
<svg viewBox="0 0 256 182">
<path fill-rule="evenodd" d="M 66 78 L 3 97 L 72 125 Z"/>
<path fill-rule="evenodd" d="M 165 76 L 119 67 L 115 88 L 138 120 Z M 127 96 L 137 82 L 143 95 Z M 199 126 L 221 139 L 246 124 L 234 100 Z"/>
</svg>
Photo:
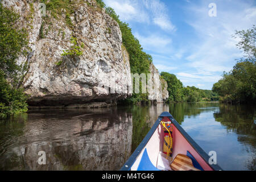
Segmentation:
<svg viewBox="0 0 256 182">
<path fill-rule="evenodd" d="M 159 72 L 155 68 L 154 64 L 150 64 L 150 73 L 152 89 L 148 90 L 148 99 L 151 100 L 152 103 L 162 103 L 169 97 L 167 91 L 167 82 L 162 77 L 160 77 Z"/>
</svg>

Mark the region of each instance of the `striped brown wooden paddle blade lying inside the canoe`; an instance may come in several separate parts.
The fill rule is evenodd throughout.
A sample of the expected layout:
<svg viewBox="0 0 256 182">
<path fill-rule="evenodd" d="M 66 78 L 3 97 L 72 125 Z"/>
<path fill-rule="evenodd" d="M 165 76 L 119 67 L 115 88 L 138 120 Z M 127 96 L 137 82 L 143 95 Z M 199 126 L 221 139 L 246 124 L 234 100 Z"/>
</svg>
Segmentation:
<svg viewBox="0 0 256 182">
<path fill-rule="evenodd" d="M 178 154 L 170 167 L 174 171 L 201 171 L 193 166 L 191 158 L 183 154 Z"/>
</svg>

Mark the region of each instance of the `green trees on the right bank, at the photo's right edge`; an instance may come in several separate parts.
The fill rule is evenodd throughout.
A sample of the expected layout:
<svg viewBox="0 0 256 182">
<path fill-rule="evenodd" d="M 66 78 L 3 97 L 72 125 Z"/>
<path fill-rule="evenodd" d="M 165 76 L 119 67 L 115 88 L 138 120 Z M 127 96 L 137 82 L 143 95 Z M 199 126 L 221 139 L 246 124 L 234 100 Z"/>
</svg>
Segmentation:
<svg viewBox="0 0 256 182">
<path fill-rule="evenodd" d="M 256 27 L 236 31 L 240 38 L 237 47 L 245 54 L 237 61 L 232 71 L 224 72 L 223 77 L 213 85 L 213 91 L 220 95 L 220 101 L 236 103 L 253 103 L 256 101 Z"/>
</svg>

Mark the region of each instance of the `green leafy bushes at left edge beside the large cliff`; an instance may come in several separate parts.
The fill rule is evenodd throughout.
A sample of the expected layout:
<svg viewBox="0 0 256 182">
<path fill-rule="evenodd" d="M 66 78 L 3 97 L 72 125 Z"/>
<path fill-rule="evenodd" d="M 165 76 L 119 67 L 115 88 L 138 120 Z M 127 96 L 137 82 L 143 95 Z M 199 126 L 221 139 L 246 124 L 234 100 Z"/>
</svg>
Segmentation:
<svg viewBox="0 0 256 182">
<path fill-rule="evenodd" d="M 18 56 L 27 52 L 26 30 L 15 26 L 19 15 L 0 3 L 0 118 L 27 111 L 27 96 L 19 88 L 24 67 L 18 65 Z"/>
</svg>

